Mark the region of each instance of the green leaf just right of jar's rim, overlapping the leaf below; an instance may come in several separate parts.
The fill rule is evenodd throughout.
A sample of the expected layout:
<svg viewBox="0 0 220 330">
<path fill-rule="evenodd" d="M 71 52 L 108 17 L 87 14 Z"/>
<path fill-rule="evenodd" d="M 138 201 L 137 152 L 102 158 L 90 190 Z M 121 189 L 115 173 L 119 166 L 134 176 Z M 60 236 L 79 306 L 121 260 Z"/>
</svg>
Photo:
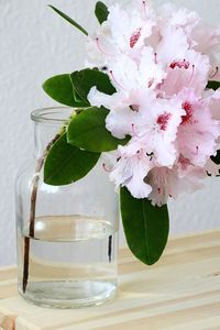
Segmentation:
<svg viewBox="0 0 220 330">
<path fill-rule="evenodd" d="M 120 144 L 127 144 L 130 138 L 117 139 L 106 129 L 108 114 L 109 110 L 94 107 L 75 116 L 68 125 L 68 143 L 96 153 L 117 150 Z"/>
</svg>

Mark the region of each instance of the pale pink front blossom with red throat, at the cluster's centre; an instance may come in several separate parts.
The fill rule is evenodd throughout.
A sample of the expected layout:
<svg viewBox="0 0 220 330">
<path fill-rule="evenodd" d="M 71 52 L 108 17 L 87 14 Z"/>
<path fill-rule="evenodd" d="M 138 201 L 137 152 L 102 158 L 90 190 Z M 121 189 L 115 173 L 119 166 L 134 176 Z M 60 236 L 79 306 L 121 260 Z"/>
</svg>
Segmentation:
<svg viewBox="0 0 220 330">
<path fill-rule="evenodd" d="M 143 101 L 143 100 L 142 100 Z M 136 139 L 145 145 L 148 154 L 153 153 L 160 166 L 173 166 L 178 151 L 175 145 L 178 127 L 185 111 L 176 98 L 155 99 L 140 103 L 140 117 L 134 124 Z"/>
</svg>

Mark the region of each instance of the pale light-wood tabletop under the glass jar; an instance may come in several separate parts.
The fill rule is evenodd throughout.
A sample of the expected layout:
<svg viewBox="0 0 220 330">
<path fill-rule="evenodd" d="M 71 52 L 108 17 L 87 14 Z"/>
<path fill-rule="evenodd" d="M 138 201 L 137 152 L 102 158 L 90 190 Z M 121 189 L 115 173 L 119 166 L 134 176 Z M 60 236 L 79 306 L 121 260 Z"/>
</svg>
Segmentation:
<svg viewBox="0 0 220 330">
<path fill-rule="evenodd" d="M 16 270 L 0 271 L 0 329 L 220 329 L 220 231 L 170 240 L 153 267 L 120 251 L 114 301 L 79 310 L 44 309 L 16 294 Z"/>
</svg>

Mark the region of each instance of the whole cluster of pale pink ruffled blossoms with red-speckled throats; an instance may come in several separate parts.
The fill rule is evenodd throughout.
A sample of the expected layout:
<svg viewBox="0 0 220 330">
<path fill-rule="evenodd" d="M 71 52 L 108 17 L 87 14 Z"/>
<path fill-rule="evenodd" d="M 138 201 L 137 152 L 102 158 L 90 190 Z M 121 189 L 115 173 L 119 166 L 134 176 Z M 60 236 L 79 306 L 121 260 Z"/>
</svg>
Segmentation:
<svg viewBox="0 0 220 330">
<path fill-rule="evenodd" d="M 161 206 L 218 174 L 210 156 L 219 150 L 220 90 L 207 84 L 220 80 L 219 45 L 220 30 L 196 12 L 165 4 L 158 13 L 144 0 L 110 7 L 89 36 L 87 66 L 107 73 L 117 92 L 94 87 L 88 99 L 110 110 L 113 136 L 131 136 L 105 167 L 133 197 Z"/>
</svg>

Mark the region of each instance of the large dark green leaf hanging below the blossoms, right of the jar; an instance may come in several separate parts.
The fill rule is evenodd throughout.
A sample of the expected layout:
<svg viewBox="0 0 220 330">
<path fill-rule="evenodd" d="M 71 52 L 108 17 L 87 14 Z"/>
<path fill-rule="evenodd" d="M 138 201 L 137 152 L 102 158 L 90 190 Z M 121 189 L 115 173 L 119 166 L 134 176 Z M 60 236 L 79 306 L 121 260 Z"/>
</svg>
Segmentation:
<svg viewBox="0 0 220 330">
<path fill-rule="evenodd" d="M 153 207 L 148 199 L 135 199 L 121 188 L 121 216 L 132 253 L 144 264 L 156 263 L 168 239 L 167 206 Z"/>
</svg>

